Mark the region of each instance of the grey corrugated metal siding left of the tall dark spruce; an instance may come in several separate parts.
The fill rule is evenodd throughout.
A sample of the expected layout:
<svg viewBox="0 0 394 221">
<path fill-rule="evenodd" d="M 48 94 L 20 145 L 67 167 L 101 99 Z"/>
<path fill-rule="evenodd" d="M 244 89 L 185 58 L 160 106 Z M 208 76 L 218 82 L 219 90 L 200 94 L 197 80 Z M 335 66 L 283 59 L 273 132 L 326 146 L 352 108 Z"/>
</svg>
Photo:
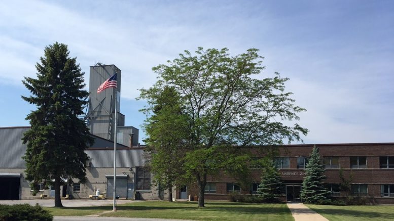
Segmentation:
<svg viewBox="0 0 394 221">
<path fill-rule="evenodd" d="M 24 168 L 26 145 L 22 144 L 23 133 L 29 127 L 0 128 L 0 168 Z"/>
</svg>

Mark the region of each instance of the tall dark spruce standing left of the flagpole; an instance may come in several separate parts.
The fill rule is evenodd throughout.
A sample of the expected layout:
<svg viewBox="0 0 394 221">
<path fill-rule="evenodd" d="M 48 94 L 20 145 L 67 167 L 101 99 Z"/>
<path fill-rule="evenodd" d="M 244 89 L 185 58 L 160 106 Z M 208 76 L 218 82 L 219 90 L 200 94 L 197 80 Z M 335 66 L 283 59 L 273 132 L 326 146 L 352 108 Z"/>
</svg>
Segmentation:
<svg viewBox="0 0 394 221">
<path fill-rule="evenodd" d="M 25 77 L 22 81 L 32 93 L 22 99 L 37 106 L 26 117 L 31 129 L 22 139 L 27 144 L 25 179 L 31 182 L 33 195 L 40 183 L 54 186 L 55 207 L 62 207 L 60 186 L 64 181 L 71 185 L 73 179 L 86 180 L 84 150 L 93 140 L 78 115 L 83 114 L 87 102 L 82 99 L 89 93 L 83 90 L 84 73 L 76 58 L 69 57 L 66 45 L 56 42 L 46 47 L 40 60 L 35 65 L 37 79 Z"/>
</svg>

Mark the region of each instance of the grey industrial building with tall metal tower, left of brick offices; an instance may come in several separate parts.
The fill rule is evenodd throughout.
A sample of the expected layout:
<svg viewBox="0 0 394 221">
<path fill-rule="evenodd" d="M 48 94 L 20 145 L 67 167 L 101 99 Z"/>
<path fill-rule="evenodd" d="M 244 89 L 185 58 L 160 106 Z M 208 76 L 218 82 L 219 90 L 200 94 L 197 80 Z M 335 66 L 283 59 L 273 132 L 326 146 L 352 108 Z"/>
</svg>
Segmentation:
<svg viewBox="0 0 394 221">
<path fill-rule="evenodd" d="M 109 88 L 97 94 L 97 88 L 106 79 L 117 73 L 117 88 Z M 138 129 L 125 126 L 125 115 L 120 113 L 121 70 L 115 65 L 97 63 L 90 67 L 89 97 L 86 121 L 94 144 L 85 150 L 89 157 L 86 164 L 87 183 L 78 181 L 72 187 L 66 182 L 61 187 L 61 195 L 71 198 L 88 198 L 97 190 L 113 197 L 114 179 L 114 136 L 115 109 L 117 110 L 117 195 L 133 199 L 135 193 L 141 199 L 158 199 L 160 193 L 151 186 L 151 173 L 145 162 L 149 158 L 138 143 Z M 117 93 L 118 102 L 115 102 Z M 115 108 L 115 105 L 117 107 Z M 37 196 L 31 195 L 29 183 L 25 178 L 25 162 L 21 158 L 26 152 L 22 144 L 23 133 L 30 127 L 0 128 L 0 200 L 19 200 L 38 198 L 41 195 L 54 196 L 54 190 L 40 186 Z"/>
</svg>

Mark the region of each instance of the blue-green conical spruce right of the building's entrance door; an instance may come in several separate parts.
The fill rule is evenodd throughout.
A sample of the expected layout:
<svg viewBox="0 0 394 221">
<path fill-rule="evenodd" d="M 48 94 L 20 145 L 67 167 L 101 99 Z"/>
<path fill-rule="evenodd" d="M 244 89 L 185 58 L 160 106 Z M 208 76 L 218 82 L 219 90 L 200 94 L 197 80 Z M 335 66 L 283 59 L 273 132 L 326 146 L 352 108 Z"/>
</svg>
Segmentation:
<svg viewBox="0 0 394 221">
<path fill-rule="evenodd" d="M 330 191 L 324 187 L 323 180 L 326 179 L 324 171 L 319 148 L 315 145 L 306 165 L 305 178 L 302 182 L 301 199 L 304 202 L 316 203 L 319 200 L 327 199 L 330 195 Z"/>
</svg>

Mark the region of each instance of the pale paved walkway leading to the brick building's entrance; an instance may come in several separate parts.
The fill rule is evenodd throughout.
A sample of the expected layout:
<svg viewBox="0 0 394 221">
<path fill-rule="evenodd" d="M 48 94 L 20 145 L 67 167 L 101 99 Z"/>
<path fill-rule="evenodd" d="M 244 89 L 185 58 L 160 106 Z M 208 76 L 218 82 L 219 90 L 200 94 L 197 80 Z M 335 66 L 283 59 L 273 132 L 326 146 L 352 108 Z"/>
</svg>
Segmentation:
<svg viewBox="0 0 394 221">
<path fill-rule="evenodd" d="M 323 215 L 309 209 L 303 203 L 288 203 L 296 221 L 329 221 Z"/>
</svg>

